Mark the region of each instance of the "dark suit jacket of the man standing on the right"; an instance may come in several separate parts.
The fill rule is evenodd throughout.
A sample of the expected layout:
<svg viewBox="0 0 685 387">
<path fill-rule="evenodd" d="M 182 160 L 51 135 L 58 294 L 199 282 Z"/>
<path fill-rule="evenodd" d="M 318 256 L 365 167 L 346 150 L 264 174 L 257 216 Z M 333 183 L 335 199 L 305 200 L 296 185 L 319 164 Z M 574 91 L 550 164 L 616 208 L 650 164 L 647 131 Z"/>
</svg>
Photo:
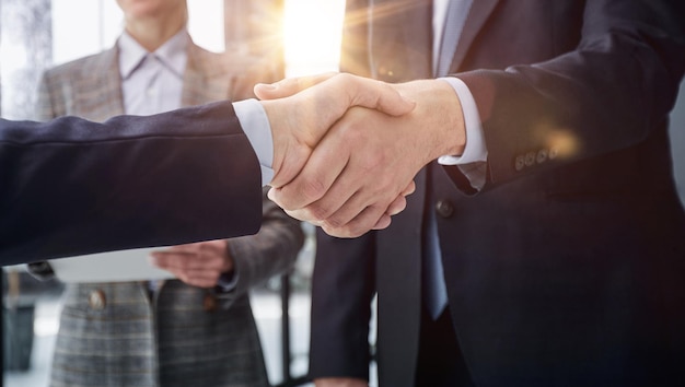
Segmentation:
<svg viewBox="0 0 685 387">
<path fill-rule="evenodd" d="M 420 4 L 349 1 L 344 70 L 431 78 Z M 432 164 L 390 228 L 320 235 L 312 376 L 367 376 L 378 292 L 380 383 L 413 385 L 428 208 L 477 386 L 683 385 L 685 215 L 666 131 L 683 20 L 678 1 L 474 1 L 452 72 L 479 109 L 486 186 Z"/>
</svg>

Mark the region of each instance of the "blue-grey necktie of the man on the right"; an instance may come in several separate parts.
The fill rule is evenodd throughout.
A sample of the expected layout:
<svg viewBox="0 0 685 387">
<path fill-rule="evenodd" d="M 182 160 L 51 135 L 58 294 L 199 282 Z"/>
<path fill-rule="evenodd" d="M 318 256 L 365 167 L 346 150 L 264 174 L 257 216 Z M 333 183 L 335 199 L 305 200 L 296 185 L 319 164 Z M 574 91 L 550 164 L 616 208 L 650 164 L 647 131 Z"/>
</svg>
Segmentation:
<svg viewBox="0 0 685 387">
<path fill-rule="evenodd" d="M 445 25 L 442 30 L 440 52 L 438 54 L 438 67 L 436 77 L 444 77 L 450 71 L 452 58 L 456 50 L 458 37 L 466 23 L 466 16 L 473 0 L 450 0 L 445 16 Z M 432 185 L 432 177 L 429 171 L 428 187 Z M 442 253 L 440 250 L 440 239 L 438 237 L 438 225 L 436 223 L 436 211 L 432 206 L 432 194 L 428 190 L 428 206 L 426 214 L 426 228 L 423 234 L 423 302 L 430 316 L 437 319 L 448 305 L 448 290 L 444 282 L 442 268 Z"/>
</svg>

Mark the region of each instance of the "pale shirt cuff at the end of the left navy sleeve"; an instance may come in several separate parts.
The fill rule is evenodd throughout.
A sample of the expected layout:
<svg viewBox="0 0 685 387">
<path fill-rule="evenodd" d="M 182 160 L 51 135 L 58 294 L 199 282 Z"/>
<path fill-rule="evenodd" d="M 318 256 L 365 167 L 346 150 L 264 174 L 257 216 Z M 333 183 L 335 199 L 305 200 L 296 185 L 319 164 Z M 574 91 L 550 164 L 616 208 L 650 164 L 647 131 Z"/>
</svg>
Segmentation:
<svg viewBox="0 0 685 387">
<path fill-rule="evenodd" d="M 271 125 L 264 107 L 255 98 L 233 103 L 233 109 L 241 122 L 241 127 L 255 150 L 262 168 L 262 186 L 271 183 L 274 178 L 274 139 Z"/>
</svg>

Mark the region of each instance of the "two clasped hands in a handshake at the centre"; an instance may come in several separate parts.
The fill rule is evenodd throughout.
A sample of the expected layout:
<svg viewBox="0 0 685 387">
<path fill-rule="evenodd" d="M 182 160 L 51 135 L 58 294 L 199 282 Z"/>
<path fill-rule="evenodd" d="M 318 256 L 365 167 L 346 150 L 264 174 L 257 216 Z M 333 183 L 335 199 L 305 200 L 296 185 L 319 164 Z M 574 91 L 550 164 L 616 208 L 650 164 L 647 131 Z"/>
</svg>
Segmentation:
<svg viewBox="0 0 685 387">
<path fill-rule="evenodd" d="M 421 167 L 464 150 L 460 101 L 443 81 L 332 73 L 258 84 L 255 94 L 274 138 L 269 198 L 333 236 L 387 227 Z"/>
</svg>

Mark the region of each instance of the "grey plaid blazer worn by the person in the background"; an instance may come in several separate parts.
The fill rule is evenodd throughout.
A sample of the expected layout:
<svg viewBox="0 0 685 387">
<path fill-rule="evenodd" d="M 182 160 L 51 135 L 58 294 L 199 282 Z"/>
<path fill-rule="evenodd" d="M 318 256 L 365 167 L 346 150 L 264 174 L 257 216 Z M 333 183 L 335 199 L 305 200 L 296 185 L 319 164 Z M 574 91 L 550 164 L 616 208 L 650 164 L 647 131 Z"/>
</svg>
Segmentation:
<svg viewBox="0 0 685 387">
<path fill-rule="evenodd" d="M 190 44 L 182 104 L 244 99 L 254 83 L 280 79 L 257 67 L 232 69 L 232 62 Z M 123 114 L 117 48 L 47 71 L 37 105 L 38 120 Z M 230 239 L 237 274 L 230 293 L 177 280 L 152 296 L 146 282 L 68 285 L 51 386 L 267 386 L 247 291 L 289 270 L 302 243 L 300 223 L 265 196 L 259 233 Z M 46 274 L 45 265 L 33 267 Z"/>
</svg>

